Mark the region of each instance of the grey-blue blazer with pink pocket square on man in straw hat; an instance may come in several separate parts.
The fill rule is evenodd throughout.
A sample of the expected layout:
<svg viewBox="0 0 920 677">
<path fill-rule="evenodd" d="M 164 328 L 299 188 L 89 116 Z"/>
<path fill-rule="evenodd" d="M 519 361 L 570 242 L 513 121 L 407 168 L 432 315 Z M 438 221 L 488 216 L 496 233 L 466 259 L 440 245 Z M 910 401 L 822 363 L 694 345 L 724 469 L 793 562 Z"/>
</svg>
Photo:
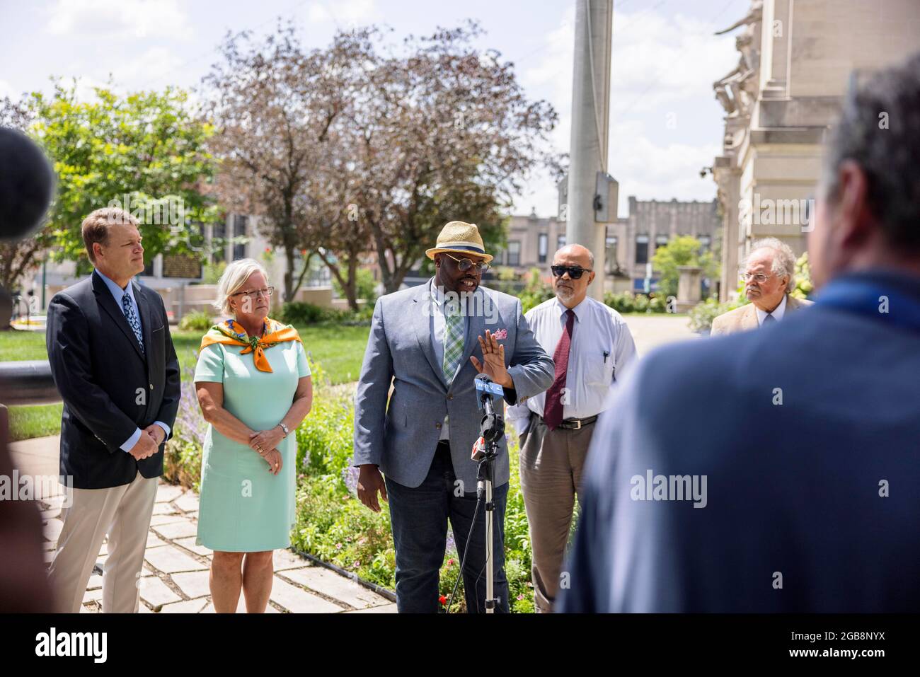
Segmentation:
<svg viewBox="0 0 920 677">
<path fill-rule="evenodd" d="M 444 384 L 431 346 L 430 283 L 377 299 L 355 394 L 354 465 L 379 465 L 398 484 L 418 487 L 428 475 L 444 416 L 449 415 L 454 473 L 465 492 L 476 491 L 477 463 L 470 460 L 470 452 L 479 436 L 482 412 L 476 407 L 473 384 L 477 371 L 469 358 L 475 355 L 483 360 L 477 337 L 486 329 L 499 331 L 500 336 L 507 332 L 499 342 L 504 344 L 505 364 L 514 382 L 514 389 L 505 389 L 504 396 L 511 405 L 518 397 L 546 390 L 555 374 L 553 360 L 536 342 L 517 298 L 484 287 L 477 289 L 476 296 L 486 312 L 469 316 L 463 359 L 450 386 Z M 393 393 L 387 407 L 391 380 Z M 502 410 L 501 398 L 495 407 Z M 502 438 L 495 486 L 508 477 L 508 449 Z"/>
</svg>

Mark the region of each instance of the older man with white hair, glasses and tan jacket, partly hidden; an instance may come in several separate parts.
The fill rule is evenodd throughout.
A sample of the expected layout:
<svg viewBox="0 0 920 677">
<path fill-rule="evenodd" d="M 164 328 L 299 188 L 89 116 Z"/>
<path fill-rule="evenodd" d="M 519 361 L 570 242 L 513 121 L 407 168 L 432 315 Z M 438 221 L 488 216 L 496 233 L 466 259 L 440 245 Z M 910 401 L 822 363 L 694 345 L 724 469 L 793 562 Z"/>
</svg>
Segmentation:
<svg viewBox="0 0 920 677">
<path fill-rule="evenodd" d="M 754 242 L 743 269 L 744 295 L 751 303 L 716 317 L 712 321 L 713 336 L 775 324 L 786 313 L 811 305 L 811 301 L 789 295 L 794 286 L 796 257 L 776 237 Z"/>
</svg>

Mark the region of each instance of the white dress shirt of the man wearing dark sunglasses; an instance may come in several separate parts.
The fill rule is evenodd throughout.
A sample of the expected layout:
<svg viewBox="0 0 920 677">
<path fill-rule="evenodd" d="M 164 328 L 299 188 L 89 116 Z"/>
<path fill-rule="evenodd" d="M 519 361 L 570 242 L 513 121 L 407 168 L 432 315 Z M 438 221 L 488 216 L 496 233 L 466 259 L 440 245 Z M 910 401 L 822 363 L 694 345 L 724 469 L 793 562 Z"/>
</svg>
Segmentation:
<svg viewBox="0 0 920 677">
<path fill-rule="evenodd" d="M 544 301 L 524 316 L 537 342 L 552 357 L 565 329 L 568 308 L 558 298 Z M 585 297 L 572 308 L 575 321 L 566 371 L 563 419 L 586 419 L 604 411 L 610 388 L 636 359 L 636 344 L 626 321 L 609 305 Z M 508 407 L 507 417 L 518 434 L 527 430 L 530 413 L 543 416 L 546 392 Z"/>
</svg>

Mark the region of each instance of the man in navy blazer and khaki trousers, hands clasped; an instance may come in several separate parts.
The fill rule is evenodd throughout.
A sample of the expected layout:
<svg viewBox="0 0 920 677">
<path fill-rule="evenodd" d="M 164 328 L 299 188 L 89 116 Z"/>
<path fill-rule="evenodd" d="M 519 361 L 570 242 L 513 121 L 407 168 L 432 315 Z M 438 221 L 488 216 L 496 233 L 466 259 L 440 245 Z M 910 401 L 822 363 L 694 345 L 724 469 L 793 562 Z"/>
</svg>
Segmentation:
<svg viewBox="0 0 920 677">
<path fill-rule="evenodd" d="M 178 360 L 163 299 L 133 280 L 144 270 L 136 220 L 100 209 L 82 231 L 95 270 L 48 306 L 48 359 L 63 397 L 61 475 L 73 482 L 49 574 L 58 608 L 79 612 L 108 533 L 102 610 L 133 613 L 178 411 Z"/>
</svg>

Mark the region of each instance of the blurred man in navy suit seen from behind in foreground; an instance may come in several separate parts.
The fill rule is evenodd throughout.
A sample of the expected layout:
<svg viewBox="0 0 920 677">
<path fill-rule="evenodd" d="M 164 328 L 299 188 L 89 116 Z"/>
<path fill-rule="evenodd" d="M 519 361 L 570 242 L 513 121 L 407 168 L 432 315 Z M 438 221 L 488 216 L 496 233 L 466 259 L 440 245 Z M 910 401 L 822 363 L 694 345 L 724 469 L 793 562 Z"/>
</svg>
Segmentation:
<svg viewBox="0 0 920 677">
<path fill-rule="evenodd" d="M 848 96 L 809 312 L 627 376 L 592 441 L 562 611 L 920 611 L 918 129 L 920 54 Z"/>
</svg>

